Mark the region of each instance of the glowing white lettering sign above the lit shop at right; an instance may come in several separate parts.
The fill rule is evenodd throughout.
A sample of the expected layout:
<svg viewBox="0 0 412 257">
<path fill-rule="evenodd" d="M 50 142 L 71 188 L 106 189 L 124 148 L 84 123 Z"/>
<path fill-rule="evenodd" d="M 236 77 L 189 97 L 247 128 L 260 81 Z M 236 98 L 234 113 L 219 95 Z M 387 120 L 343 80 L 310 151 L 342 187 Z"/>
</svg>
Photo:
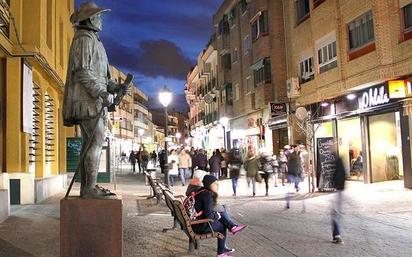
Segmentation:
<svg viewBox="0 0 412 257">
<path fill-rule="evenodd" d="M 361 92 L 358 97 L 358 101 L 359 109 L 367 109 L 389 103 L 390 98 L 385 85 L 380 85 Z"/>
</svg>

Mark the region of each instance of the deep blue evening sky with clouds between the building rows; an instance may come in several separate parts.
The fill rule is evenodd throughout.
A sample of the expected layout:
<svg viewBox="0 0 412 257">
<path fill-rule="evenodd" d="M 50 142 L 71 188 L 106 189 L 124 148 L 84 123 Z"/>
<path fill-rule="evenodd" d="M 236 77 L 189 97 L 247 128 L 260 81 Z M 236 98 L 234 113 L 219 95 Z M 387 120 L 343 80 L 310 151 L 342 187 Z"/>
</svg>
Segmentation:
<svg viewBox="0 0 412 257">
<path fill-rule="evenodd" d="M 186 111 L 186 75 L 213 33 L 212 16 L 222 1 L 95 0 L 112 10 L 103 15 L 100 33 L 110 64 L 135 75 L 151 107 L 158 106 L 157 93 L 166 84 L 175 108 Z"/>
</svg>

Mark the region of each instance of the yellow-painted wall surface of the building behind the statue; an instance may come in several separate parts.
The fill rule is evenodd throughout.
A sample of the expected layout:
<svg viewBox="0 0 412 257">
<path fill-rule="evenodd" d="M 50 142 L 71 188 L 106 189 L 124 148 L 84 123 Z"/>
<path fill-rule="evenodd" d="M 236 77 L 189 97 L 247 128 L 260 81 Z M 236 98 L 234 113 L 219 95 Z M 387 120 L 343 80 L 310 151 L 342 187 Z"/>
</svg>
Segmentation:
<svg viewBox="0 0 412 257">
<path fill-rule="evenodd" d="M 36 145 L 35 176 L 42 178 L 57 175 L 66 171 L 66 136 L 73 136 L 74 129 L 63 126 L 61 107 L 67 70 L 68 52 L 73 28 L 69 21 L 74 9 L 74 0 L 12 0 L 11 10 L 16 18 L 17 30 L 20 34 L 24 48 L 29 52 L 38 52 L 44 56 L 51 72 L 57 75 L 57 79 L 47 72 L 44 64 L 33 57 L 26 58 L 33 69 L 33 82 L 37 84 L 44 100 L 46 92 L 53 99 L 54 112 L 52 121 L 54 138 L 51 141 L 54 146 L 54 161 L 47 163 L 45 156 L 45 102 L 41 102 L 41 115 L 39 117 L 40 132 Z M 10 25 L 10 31 L 14 31 Z M 10 40 L 10 41 L 9 41 Z M 50 41 L 51 40 L 51 41 Z M 0 43 L 4 41 L 3 36 Z M 5 171 L 10 173 L 29 171 L 29 134 L 22 132 L 22 99 L 21 78 L 22 58 L 11 55 L 26 54 L 17 44 L 13 32 L 10 38 L 5 39 L 11 43 L 11 47 L 5 45 L 6 51 L 2 56 L 7 56 L 6 61 L 6 121 L 5 121 Z M 2 46 L 4 44 L 2 43 Z M 8 52 L 8 53 L 6 53 Z"/>
</svg>

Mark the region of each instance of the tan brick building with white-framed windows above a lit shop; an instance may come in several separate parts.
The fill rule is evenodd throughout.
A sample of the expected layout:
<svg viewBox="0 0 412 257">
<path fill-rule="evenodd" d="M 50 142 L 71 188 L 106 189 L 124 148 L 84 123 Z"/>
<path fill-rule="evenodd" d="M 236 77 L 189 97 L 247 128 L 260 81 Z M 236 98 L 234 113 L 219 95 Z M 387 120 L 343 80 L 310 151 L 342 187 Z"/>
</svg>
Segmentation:
<svg viewBox="0 0 412 257">
<path fill-rule="evenodd" d="M 412 1 L 283 5 L 292 112 L 310 115 L 318 183 L 328 173 L 318 148 L 334 142 L 351 179 L 403 179 L 411 188 Z"/>
</svg>

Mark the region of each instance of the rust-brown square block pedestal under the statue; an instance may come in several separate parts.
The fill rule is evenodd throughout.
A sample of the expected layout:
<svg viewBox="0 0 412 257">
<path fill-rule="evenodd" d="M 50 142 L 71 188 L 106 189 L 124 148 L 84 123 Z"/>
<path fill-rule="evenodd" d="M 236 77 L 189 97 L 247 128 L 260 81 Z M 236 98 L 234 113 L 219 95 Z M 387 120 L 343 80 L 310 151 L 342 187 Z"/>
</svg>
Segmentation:
<svg viewBox="0 0 412 257">
<path fill-rule="evenodd" d="M 60 201 L 60 257 L 121 257 L 122 201 Z"/>
</svg>

